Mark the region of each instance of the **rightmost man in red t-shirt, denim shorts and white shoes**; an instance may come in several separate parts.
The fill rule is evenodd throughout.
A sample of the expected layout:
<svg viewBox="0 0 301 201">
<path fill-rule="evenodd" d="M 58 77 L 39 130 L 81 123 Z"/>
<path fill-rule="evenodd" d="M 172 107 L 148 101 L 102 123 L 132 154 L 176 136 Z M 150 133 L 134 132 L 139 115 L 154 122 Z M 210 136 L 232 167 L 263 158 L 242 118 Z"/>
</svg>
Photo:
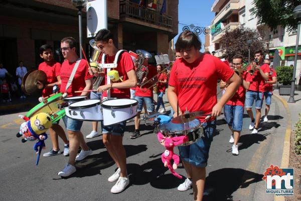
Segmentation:
<svg viewBox="0 0 301 201">
<path fill-rule="evenodd" d="M 264 59 L 264 63 L 270 65 L 269 59 Z M 273 95 L 273 84 L 277 82 L 277 73 L 273 68 L 270 68 L 270 72 L 268 74 L 268 80 L 265 81 L 264 85 L 264 97 L 265 97 L 265 116 L 263 118 L 263 122 L 267 122 L 267 115 L 271 105 L 271 99 Z"/>
</svg>

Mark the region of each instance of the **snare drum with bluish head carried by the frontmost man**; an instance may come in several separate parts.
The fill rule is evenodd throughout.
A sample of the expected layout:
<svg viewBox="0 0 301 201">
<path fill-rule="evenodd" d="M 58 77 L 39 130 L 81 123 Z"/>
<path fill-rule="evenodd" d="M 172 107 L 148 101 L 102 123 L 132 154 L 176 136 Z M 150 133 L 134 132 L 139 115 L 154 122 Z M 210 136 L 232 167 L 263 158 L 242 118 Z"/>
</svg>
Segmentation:
<svg viewBox="0 0 301 201">
<path fill-rule="evenodd" d="M 174 124 L 172 122 L 161 124 L 159 130 L 161 133 L 165 134 L 165 136 L 188 136 L 188 141 L 179 146 L 191 145 L 204 135 L 203 126 L 197 119 L 185 124 Z"/>
</svg>

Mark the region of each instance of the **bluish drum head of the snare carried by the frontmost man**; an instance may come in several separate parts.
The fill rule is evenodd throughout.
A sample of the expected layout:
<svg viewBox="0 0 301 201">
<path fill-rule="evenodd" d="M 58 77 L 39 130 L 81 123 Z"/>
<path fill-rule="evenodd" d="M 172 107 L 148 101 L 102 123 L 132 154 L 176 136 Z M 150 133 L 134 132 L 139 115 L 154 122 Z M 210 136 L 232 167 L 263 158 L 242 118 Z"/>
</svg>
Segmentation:
<svg viewBox="0 0 301 201">
<path fill-rule="evenodd" d="M 177 133 L 177 132 L 182 132 L 185 130 L 193 130 L 193 129 L 197 128 L 200 124 L 201 124 L 201 122 L 197 119 L 190 121 L 188 123 L 185 123 L 185 124 L 174 124 L 172 122 L 169 122 L 167 124 L 160 125 L 159 129 L 163 130 L 163 131 Z"/>
</svg>

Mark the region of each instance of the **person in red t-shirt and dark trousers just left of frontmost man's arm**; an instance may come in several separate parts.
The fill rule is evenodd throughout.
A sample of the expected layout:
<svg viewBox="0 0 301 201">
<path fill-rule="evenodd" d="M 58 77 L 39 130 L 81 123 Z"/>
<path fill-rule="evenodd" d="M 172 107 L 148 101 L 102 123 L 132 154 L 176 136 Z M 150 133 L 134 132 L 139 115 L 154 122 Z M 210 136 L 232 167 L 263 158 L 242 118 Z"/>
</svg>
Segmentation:
<svg viewBox="0 0 301 201">
<path fill-rule="evenodd" d="M 157 71 L 158 71 L 158 73 L 162 71 L 162 66 L 161 65 L 157 65 Z M 163 95 L 165 93 L 166 83 L 167 83 L 166 73 L 165 72 L 159 73 L 158 74 L 158 83 L 157 83 L 158 99 L 157 99 L 156 112 L 159 111 L 160 106 L 162 106 L 162 110 L 160 111 L 160 113 L 165 113 L 166 112 L 164 102 L 163 102 Z"/>
</svg>

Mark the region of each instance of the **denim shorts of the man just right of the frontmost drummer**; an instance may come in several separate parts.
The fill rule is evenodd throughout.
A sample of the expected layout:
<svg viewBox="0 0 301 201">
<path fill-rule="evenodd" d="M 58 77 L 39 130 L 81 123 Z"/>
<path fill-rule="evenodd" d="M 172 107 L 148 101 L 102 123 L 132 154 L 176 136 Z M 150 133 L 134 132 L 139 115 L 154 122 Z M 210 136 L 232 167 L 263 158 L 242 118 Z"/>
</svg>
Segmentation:
<svg viewBox="0 0 301 201">
<path fill-rule="evenodd" d="M 227 124 L 232 127 L 234 131 L 242 130 L 243 107 L 225 105 L 224 112 Z"/>
</svg>

